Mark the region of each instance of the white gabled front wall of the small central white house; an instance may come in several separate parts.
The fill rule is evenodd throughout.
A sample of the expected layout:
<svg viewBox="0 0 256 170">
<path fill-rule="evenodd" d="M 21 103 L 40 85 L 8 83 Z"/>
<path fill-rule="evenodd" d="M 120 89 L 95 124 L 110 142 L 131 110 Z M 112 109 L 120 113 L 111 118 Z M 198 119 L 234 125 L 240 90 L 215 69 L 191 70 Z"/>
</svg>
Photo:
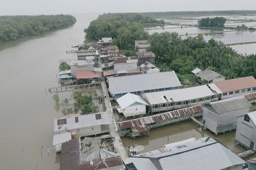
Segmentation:
<svg viewBox="0 0 256 170">
<path fill-rule="evenodd" d="M 140 103 L 134 103 L 124 109 L 123 114 L 125 117 L 146 114 L 146 105 Z"/>
</svg>

